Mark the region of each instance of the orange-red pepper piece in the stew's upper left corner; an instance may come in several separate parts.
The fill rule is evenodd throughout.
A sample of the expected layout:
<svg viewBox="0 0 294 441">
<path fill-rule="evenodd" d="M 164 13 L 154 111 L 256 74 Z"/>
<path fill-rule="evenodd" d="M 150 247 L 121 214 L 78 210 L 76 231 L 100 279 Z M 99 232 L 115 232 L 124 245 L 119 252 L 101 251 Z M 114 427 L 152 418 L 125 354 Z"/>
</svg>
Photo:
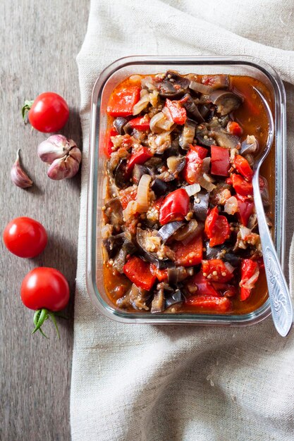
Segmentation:
<svg viewBox="0 0 294 441">
<path fill-rule="evenodd" d="M 140 87 L 123 87 L 112 92 L 107 106 L 107 113 L 110 116 L 130 116 L 133 115 L 133 106 L 140 99 Z"/>
</svg>

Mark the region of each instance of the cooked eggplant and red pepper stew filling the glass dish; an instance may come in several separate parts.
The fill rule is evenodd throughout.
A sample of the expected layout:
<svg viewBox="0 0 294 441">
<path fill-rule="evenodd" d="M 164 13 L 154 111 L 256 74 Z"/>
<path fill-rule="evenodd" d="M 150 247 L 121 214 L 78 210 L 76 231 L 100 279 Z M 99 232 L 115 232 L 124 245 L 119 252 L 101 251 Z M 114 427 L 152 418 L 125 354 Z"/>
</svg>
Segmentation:
<svg viewBox="0 0 294 441">
<path fill-rule="evenodd" d="M 268 123 L 253 82 L 261 87 L 169 70 L 114 89 L 102 242 L 117 307 L 243 313 L 264 302 L 252 175 Z M 271 226 L 267 179 L 259 182 Z"/>
</svg>

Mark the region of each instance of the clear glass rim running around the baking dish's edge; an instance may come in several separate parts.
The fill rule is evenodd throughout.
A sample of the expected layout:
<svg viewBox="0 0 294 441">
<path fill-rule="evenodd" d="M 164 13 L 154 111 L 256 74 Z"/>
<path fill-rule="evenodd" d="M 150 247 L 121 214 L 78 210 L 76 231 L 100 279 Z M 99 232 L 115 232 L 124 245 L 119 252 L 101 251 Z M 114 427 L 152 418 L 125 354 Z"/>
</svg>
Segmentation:
<svg viewBox="0 0 294 441">
<path fill-rule="evenodd" d="M 97 171 L 98 160 L 95 163 L 95 151 L 97 151 L 97 127 L 99 97 L 103 92 L 104 85 L 109 77 L 117 70 L 132 65 L 158 66 L 161 64 L 171 65 L 243 65 L 251 66 L 264 75 L 266 75 L 274 88 L 275 97 L 275 139 L 276 139 L 276 157 L 275 157 L 275 200 L 280 204 L 275 204 L 275 240 L 278 257 L 284 267 L 284 249 L 285 249 L 285 225 L 286 225 L 286 92 L 283 82 L 276 71 L 268 63 L 252 56 L 126 56 L 118 58 L 107 66 L 94 84 L 92 90 L 91 115 L 90 115 L 90 142 L 89 142 L 89 165 L 88 165 L 88 188 L 87 188 L 87 251 L 86 251 L 86 283 L 87 292 L 92 303 L 108 318 L 121 323 L 149 323 L 149 324 L 199 324 L 199 325 L 250 325 L 264 320 L 271 314 L 269 299 L 259 309 L 251 313 L 241 315 L 216 315 L 216 314 L 195 314 L 195 313 L 161 313 L 156 316 L 151 313 L 130 313 L 118 311 L 106 304 L 100 296 L 96 283 L 96 225 L 97 225 L 97 180 L 95 180 L 95 171 Z M 97 176 L 97 173 L 96 173 Z M 277 176 L 281 178 L 277 185 Z M 95 186 L 96 183 L 96 186 Z M 278 198 L 278 199 L 277 199 Z M 277 213 L 278 211 L 278 213 Z"/>
</svg>

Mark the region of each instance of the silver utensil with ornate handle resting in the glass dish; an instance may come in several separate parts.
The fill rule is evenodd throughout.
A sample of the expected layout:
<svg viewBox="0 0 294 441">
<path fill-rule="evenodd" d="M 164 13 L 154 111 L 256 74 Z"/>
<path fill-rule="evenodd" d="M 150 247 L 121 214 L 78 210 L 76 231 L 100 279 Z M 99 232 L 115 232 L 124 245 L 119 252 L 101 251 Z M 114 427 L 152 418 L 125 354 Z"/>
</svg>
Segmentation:
<svg viewBox="0 0 294 441">
<path fill-rule="evenodd" d="M 262 103 L 269 119 L 269 135 L 267 137 L 267 145 L 262 151 L 262 154 L 256 159 L 254 166 L 255 173 L 252 179 L 252 185 L 255 198 L 255 209 L 257 213 L 260 241 L 262 243 L 262 253 L 264 255 L 264 268 L 267 275 L 267 286 L 269 288 L 271 315 L 278 333 L 283 337 L 286 337 L 293 323 L 293 307 L 288 285 L 285 276 L 283 275 L 281 264 L 278 261 L 276 249 L 267 225 L 264 206 L 262 204 L 262 196 L 259 189 L 259 169 L 264 159 L 269 154 L 274 140 L 274 120 L 269 104 L 264 98 L 263 94 L 259 92 L 256 87 L 253 87 L 253 89 L 255 89 L 255 92 L 257 92 L 260 99 L 262 99 Z"/>
</svg>

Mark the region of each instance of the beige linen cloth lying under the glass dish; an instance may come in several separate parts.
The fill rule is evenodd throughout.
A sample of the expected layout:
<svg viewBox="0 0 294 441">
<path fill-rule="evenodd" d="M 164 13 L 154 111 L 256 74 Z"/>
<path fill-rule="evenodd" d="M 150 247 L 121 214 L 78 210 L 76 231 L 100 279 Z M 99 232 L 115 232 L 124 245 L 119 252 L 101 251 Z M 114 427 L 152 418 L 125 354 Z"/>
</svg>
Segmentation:
<svg viewBox="0 0 294 441">
<path fill-rule="evenodd" d="M 84 159 L 73 441 L 294 440 L 293 332 L 279 337 L 271 318 L 247 328 L 120 324 L 94 309 L 85 282 L 92 87 L 104 67 L 133 54 L 258 56 L 288 83 L 288 255 L 294 203 L 293 19 L 293 0 L 92 0 L 78 55 Z"/>
</svg>

